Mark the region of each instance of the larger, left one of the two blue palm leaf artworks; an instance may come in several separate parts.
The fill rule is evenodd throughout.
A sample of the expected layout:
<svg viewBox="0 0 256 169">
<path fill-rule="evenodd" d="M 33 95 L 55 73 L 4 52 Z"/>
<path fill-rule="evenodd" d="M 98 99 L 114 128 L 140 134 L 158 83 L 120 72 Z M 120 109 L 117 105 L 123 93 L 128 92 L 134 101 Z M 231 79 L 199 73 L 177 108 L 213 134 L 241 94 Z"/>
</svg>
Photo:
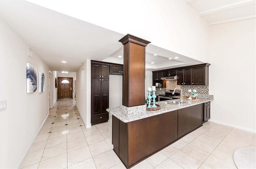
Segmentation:
<svg viewBox="0 0 256 169">
<path fill-rule="evenodd" d="M 32 93 L 37 90 L 37 69 L 30 63 L 27 63 L 27 93 Z"/>
</svg>

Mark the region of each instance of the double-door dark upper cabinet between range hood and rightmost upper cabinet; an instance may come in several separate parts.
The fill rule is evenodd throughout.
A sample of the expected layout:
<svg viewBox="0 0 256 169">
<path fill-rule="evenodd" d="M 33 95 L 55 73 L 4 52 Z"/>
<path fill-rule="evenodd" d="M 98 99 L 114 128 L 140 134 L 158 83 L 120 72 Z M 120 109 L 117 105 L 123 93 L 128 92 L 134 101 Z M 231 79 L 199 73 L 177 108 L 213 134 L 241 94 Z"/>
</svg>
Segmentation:
<svg viewBox="0 0 256 169">
<path fill-rule="evenodd" d="M 191 85 L 191 68 L 177 70 L 177 85 Z"/>
</svg>

